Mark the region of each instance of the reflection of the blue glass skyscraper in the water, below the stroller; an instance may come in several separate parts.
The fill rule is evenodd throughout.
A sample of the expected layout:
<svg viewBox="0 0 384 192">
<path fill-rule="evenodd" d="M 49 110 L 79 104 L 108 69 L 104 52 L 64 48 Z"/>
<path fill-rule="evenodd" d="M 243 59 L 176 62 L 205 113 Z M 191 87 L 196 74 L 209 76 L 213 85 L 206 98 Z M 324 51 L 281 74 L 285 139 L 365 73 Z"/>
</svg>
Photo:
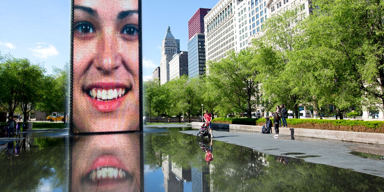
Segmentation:
<svg viewBox="0 0 384 192">
<path fill-rule="evenodd" d="M 192 192 L 209 192 L 213 191 L 210 189 L 209 173 L 210 168 L 204 167 L 192 167 Z"/>
</svg>

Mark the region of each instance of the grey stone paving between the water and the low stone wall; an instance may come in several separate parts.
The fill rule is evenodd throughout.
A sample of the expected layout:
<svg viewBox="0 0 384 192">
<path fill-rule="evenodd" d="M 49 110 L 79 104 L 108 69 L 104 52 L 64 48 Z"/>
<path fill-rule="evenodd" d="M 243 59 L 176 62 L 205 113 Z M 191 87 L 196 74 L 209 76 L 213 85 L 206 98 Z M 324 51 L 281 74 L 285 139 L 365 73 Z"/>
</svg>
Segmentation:
<svg viewBox="0 0 384 192">
<path fill-rule="evenodd" d="M 198 130 L 196 129 L 180 132 L 196 135 L 197 131 Z M 250 147 L 266 154 L 295 157 L 304 159 L 307 162 L 327 164 L 334 167 L 384 177 L 384 160 L 366 159 L 350 154 L 350 152 L 356 149 L 363 149 L 359 151 L 364 152 L 364 148 L 367 149 L 366 151 L 372 151 L 373 148 L 378 147 L 380 149 L 376 149 L 375 151 L 380 152 L 384 150 L 383 145 L 361 144 L 330 139 L 311 139 L 308 137 L 300 139 L 298 136 L 288 135 L 279 135 L 279 138 L 277 139 L 273 137 L 274 134 L 260 134 L 260 132 L 227 132 L 214 130 L 213 135 L 214 137 L 212 139 L 214 140 Z M 298 140 L 295 139 L 296 137 L 298 137 Z M 292 140 L 291 138 L 295 140 Z M 293 152 L 304 154 L 282 155 Z"/>
</svg>

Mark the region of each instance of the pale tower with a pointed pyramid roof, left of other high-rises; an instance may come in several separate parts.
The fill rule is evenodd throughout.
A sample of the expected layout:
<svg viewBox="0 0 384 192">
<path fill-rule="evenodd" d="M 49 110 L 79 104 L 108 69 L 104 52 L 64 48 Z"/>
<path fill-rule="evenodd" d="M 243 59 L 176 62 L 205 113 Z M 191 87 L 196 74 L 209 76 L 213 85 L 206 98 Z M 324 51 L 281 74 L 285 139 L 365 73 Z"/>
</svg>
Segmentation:
<svg viewBox="0 0 384 192">
<path fill-rule="evenodd" d="M 161 46 L 161 61 L 160 61 L 160 84 L 167 83 L 169 81 L 169 61 L 172 57 L 180 52 L 180 40 L 175 39 L 170 31 L 170 27 L 167 27 L 167 33 L 164 37 Z"/>
</svg>

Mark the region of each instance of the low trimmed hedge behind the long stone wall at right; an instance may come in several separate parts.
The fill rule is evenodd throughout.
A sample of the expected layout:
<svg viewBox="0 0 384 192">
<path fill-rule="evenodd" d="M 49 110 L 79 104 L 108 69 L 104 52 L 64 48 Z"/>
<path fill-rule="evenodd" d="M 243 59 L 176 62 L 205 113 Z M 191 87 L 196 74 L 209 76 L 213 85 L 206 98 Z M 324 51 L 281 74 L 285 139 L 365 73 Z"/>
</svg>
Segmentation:
<svg viewBox="0 0 384 192">
<path fill-rule="evenodd" d="M 273 119 L 271 119 L 273 120 Z M 331 120 L 331 119 L 286 119 L 288 127 L 305 129 L 323 129 L 335 131 L 355 131 L 384 133 L 384 121 Z M 259 125 L 265 124 L 265 118 L 215 118 L 214 123 Z"/>
</svg>

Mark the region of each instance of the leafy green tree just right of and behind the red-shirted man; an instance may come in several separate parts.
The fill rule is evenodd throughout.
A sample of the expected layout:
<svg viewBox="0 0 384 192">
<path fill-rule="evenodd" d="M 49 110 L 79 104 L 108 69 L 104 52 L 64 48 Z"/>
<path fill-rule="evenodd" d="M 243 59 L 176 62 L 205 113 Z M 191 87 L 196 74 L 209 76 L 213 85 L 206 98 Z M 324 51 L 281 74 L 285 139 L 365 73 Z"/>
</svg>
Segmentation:
<svg viewBox="0 0 384 192">
<path fill-rule="evenodd" d="M 213 89 L 223 96 L 217 108 L 234 108 L 239 112 L 246 112 L 252 117 L 252 106 L 258 94 L 258 68 L 254 60 L 255 51 L 245 49 L 236 53 L 228 52 L 227 58 L 221 61 L 208 61 L 208 81 Z M 229 110 L 227 110 L 229 111 Z"/>
</svg>

